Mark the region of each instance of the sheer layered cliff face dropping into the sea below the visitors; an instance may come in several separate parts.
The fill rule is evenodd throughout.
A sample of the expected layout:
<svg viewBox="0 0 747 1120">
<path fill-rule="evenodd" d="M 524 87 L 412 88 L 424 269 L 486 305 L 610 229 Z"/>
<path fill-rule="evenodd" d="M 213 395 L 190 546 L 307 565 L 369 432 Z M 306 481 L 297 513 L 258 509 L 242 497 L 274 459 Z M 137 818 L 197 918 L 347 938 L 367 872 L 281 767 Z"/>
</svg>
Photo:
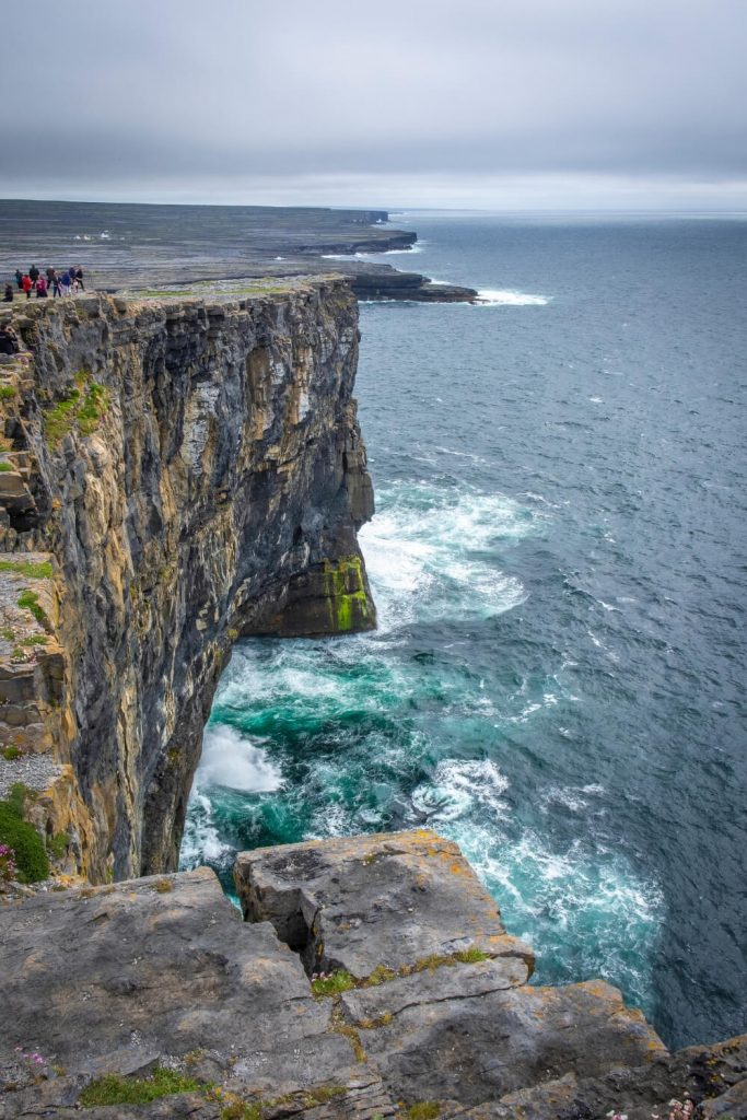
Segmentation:
<svg viewBox="0 0 747 1120">
<path fill-rule="evenodd" d="M 375 624 L 356 543 L 373 498 L 355 299 L 334 280 L 91 298 L 20 327 L 36 512 L 15 548 L 44 542 L 59 566 L 60 754 L 91 816 L 86 869 L 174 868 L 235 638 Z"/>
</svg>

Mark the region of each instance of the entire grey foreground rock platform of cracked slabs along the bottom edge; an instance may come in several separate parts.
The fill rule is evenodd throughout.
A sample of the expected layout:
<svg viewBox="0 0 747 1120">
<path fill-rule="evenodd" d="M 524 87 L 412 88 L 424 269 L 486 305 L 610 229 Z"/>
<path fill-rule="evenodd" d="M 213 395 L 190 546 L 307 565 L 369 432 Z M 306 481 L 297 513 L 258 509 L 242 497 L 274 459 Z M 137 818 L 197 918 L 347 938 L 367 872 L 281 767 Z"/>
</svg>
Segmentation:
<svg viewBox="0 0 747 1120">
<path fill-rule="evenodd" d="M 0 1120 L 747 1114 L 747 1036 L 673 1055 L 603 981 L 527 983 L 433 832 L 248 852 L 236 881 L 249 922 L 205 868 L 0 908 Z"/>
</svg>

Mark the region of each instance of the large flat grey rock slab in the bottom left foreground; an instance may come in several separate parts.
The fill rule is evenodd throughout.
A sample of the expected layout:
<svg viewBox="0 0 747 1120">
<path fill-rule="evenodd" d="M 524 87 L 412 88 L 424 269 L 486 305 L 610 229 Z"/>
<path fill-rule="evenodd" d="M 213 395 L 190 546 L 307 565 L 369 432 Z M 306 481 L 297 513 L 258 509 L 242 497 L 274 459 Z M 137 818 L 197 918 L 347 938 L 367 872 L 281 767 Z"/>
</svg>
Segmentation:
<svg viewBox="0 0 747 1120">
<path fill-rule="evenodd" d="M 81 1085 L 190 1055 L 198 1074 L 202 1062 L 207 1080 L 248 1093 L 344 1083 L 355 1068 L 298 956 L 269 923 L 244 924 L 206 868 L 36 895 L 0 911 L 0 943 L 7 1082 L 28 1065 L 19 1054 Z M 63 1089 L 58 1103 L 73 1103 Z"/>
</svg>

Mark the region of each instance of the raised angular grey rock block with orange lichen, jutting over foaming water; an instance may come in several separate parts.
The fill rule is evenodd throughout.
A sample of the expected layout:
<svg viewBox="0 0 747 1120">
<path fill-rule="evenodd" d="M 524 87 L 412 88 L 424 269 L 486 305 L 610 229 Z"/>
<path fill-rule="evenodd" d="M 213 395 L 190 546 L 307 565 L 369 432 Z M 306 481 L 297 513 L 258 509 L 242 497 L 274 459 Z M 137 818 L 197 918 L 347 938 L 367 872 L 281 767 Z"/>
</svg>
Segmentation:
<svg viewBox="0 0 747 1120">
<path fill-rule="evenodd" d="M 259 848 L 234 875 L 245 918 L 271 922 L 309 972 L 362 979 L 469 949 L 533 965 L 457 844 L 429 829 Z"/>
</svg>

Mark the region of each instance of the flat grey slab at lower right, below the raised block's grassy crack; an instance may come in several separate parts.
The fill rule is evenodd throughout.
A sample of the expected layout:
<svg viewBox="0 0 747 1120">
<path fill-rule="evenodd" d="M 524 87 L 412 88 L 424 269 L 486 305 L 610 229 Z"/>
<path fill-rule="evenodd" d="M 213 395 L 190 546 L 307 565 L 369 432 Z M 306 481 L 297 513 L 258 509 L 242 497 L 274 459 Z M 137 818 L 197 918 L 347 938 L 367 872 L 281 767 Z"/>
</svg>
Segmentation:
<svg viewBox="0 0 747 1120">
<path fill-rule="evenodd" d="M 420 990 L 409 993 L 390 996 L 384 984 L 375 996 L 366 990 L 343 997 L 368 1060 L 393 1096 L 408 1103 L 475 1105 L 569 1071 L 578 1079 L 600 1077 L 667 1055 L 643 1015 L 600 980 L 512 987 L 489 963 L 441 968 L 417 979 Z"/>
</svg>

